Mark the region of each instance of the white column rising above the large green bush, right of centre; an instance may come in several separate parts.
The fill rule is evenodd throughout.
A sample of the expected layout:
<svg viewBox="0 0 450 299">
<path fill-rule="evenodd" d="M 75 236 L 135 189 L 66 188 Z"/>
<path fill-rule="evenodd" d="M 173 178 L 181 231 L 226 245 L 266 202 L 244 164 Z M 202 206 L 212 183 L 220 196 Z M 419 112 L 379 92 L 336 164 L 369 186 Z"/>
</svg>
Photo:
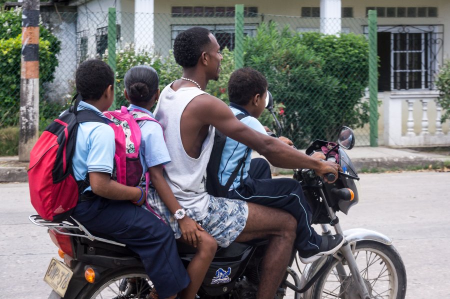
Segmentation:
<svg viewBox="0 0 450 299">
<path fill-rule="evenodd" d="M 320 32 L 338 34 L 341 31 L 340 0 L 320 0 Z"/>
</svg>

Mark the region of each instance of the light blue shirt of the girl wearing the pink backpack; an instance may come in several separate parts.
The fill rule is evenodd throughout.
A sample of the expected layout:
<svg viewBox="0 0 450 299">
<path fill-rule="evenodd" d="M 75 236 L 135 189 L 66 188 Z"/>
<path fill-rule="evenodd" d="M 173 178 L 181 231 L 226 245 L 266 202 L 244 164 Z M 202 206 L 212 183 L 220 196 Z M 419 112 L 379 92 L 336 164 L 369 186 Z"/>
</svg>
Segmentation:
<svg viewBox="0 0 450 299">
<path fill-rule="evenodd" d="M 147 109 L 130 104 L 128 110 L 132 109 L 142 110 L 154 118 L 153 113 Z M 159 123 L 151 120 L 138 120 L 138 123 L 141 132 L 139 157 L 142 165 L 146 166 L 143 167 L 143 171 L 147 171 L 148 167 L 170 162 L 170 155 Z"/>
</svg>

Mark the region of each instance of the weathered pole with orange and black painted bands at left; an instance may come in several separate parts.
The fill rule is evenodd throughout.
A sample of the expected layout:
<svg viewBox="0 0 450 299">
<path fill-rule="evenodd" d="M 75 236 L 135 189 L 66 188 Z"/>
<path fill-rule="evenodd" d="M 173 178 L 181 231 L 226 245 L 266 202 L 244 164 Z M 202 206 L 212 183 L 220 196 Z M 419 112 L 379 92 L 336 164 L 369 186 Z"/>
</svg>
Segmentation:
<svg viewBox="0 0 450 299">
<path fill-rule="evenodd" d="M 25 0 L 22 8 L 18 155 L 29 161 L 39 136 L 39 0 Z"/>
</svg>

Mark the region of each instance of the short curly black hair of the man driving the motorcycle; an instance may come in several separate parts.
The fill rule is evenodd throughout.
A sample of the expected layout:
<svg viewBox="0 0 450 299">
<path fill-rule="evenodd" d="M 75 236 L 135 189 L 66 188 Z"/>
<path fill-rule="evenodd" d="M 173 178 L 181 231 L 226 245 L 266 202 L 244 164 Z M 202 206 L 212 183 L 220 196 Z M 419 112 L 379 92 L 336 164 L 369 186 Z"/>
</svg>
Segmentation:
<svg viewBox="0 0 450 299">
<path fill-rule="evenodd" d="M 182 67 L 193 67 L 197 64 L 201 52 L 211 42 L 209 31 L 203 27 L 192 27 L 179 33 L 173 42 L 173 56 Z"/>
</svg>

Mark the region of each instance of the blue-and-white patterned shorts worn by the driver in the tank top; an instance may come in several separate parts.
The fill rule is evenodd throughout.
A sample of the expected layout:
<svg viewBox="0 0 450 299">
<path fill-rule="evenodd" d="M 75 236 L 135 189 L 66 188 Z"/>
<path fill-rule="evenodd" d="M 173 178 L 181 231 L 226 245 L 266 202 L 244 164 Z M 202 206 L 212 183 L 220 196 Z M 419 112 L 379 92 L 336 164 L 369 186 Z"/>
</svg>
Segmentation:
<svg viewBox="0 0 450 299">
<path fill-rule="evenodd" d="M 208 214 L 199 223 L 220 247 L 228 247 L 242 232 L 247 217 L 247 202 L 209 196 Z"/>
</svg>

